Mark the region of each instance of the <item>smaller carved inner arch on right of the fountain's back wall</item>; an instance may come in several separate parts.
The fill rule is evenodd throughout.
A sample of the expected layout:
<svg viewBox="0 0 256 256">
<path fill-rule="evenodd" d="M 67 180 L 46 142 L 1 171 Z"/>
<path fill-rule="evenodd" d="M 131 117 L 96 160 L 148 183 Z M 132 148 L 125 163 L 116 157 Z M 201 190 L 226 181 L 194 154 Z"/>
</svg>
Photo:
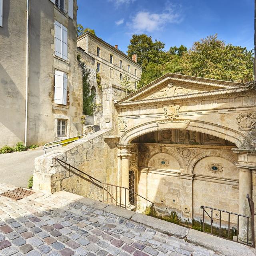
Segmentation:
<svg viewBox="0 0 256 256">
<path fill-rule="evenodd" d="M 232 164 L 236 165 L 238 162 L 236 161 L 236 159 L 230 155 L 230 154 L 226 154 L 225 152 L 222 152 L 220 150 L 207 150 L 207 151 L 204 151 L 196 156 L 194 156 L 194 158 L 192 158 L 192 160 L 190 161 L 190 163 L 188 164 L 188 168 L 187 168 L 187 171 L 189 174 L 192 174 L 193 173 L 193 169 L 194 169 L 194 166 L 196 165 L 196 163 L 204 158 L 204 157 L 207 157 L 207 156 L 219 156 L 221 158 L 224 158 L 230 162 L 232 162 Z"/>
</svg>

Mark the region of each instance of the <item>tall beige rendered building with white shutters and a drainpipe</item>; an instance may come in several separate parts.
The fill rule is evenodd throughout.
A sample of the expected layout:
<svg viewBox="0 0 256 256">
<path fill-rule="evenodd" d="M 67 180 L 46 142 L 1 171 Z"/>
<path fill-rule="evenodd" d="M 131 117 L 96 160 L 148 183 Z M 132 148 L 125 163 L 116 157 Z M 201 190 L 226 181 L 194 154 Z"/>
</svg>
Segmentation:
<svg viewBox="0 0 256 256">
<path fill-rule="evenodd" d="M 81 134 L 76 0 L 0 0 L 0 147 Z"/>
</svg>

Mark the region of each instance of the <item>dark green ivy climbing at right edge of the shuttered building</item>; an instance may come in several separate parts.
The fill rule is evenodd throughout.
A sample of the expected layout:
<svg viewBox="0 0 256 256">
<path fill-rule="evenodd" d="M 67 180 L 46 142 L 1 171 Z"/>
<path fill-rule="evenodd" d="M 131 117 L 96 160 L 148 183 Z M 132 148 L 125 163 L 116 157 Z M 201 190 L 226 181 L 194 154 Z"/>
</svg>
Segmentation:
<svg viewBox="0 0 256 256">
<path fill-rule="evenodd" d="M 78 54 L 77 56 L 78 63 L 82 69 L 82 84 L 83 84 L 83 114 L 92 116 L 93 115 L 93 108 L 91 106 L 94 94 L 90 90 L 90 70 L 86 68 L 86 65 L 81 60 L 81 56 Z"/>
</svg>

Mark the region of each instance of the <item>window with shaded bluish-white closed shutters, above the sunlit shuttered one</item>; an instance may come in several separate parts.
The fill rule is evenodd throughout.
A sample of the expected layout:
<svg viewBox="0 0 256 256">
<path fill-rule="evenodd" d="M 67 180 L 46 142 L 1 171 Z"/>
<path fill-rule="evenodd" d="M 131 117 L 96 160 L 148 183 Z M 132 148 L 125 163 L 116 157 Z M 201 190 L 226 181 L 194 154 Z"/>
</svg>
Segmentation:
<svg viewBox="0 0 256 256">
<path fill-rule="evenodd" d="M 55 55 L 67 60 L 68 59 L 68 30 L 62 24 L 55 20 Z"/>
</svg>

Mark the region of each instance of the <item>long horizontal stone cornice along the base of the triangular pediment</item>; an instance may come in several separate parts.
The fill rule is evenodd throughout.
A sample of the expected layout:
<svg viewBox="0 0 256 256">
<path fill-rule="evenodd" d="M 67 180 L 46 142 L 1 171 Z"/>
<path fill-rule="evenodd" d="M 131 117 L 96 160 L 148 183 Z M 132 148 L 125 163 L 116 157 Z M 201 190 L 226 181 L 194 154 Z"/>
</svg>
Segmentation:
<svg viewBox="0 0 256 256">
<path fill-rule="evenodd" d="M 164 98 L 156 98 L 156 99 L 145 99 L 145 100 L 134 100 L 134 101 L 128 101 L 128 102 L 117 102 L 117 107 L 122 106 L 132 106 L 132 105 L 139 105 L 139 104 L 150 104 L 150 103 L 164 103 L 164 102 L 179 102 L 183 100 L 192 100 L 192 99 L 203 99 L 203 98 L 209 98 L 211 96 L 224 96 L 226 94 L 232 94 L 232 93 L 241 93 L 248 91 L 248 88 L 246 87 L 238 87 L 238 88 L 226 88 L 226 89 L 219 89 L 219 90 L 213 90 L 208 92 L 198 92 L 193 94 L 186 94 L 186 95 L 177 95 L 172 97 L 164 97 Z"/>
</svg>

